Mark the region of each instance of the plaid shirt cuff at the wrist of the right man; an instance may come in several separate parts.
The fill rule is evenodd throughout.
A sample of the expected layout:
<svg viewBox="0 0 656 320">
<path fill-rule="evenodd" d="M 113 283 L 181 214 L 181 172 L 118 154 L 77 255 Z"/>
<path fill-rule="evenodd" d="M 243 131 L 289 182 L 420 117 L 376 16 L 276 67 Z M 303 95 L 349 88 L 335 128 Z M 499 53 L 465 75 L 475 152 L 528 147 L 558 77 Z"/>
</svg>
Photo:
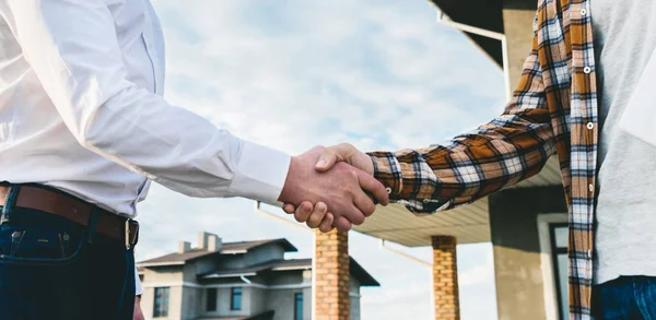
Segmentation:
<svg viewBox="0 0 656 320">
<path fill-rule="evenodd" d="M 372 152 L 367 154 L 374 163 L 374 178 L 385 186 L 385 190 L 387 190 L 391 200 L 398 200 L 403 191 L 403 178 L 396 155 L 393 152 Z"/>
</svg>

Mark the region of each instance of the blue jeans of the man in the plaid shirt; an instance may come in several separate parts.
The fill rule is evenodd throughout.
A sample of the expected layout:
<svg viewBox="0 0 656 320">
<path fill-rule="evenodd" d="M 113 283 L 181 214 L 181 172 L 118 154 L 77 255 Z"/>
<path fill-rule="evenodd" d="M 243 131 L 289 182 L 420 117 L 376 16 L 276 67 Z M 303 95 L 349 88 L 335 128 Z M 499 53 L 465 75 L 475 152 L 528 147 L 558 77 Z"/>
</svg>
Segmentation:
<svg viewBox="0 0 656 320">
<path fill-rule="evenodd" d="M 621 276 L 593 287 L 596 320 L 656 320 L 656 277 Z"/>
</svg>

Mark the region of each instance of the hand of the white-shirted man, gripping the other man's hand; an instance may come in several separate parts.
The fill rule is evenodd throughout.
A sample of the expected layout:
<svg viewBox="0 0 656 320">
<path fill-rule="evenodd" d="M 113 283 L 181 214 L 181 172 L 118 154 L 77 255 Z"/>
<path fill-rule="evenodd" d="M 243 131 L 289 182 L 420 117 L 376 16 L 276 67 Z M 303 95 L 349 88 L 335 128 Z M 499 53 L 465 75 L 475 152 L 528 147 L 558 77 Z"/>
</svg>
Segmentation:
<svg viewBox="0 0 656 320">
<path fill-rule="evenodd" d="M 325 149 L 317 146 L 292 157 L 280 201 L 294 206 L 301 205 L 303 201 L 315 205 L 323 202 L 321 205 L 325 204 L 326 209 L 319 206 L 317 211 L 313 208 L 313 212 L 317 211 L 326 216 L 332 216 L 335 227 L 342 232 L 349 230 L 351 224 L 362 224 L 366 216 L 374 213 L 374 201 L 365 191 L 380 204 L 387 205 L 389 197 L 385 192 L 385 187 L 371 174 L 343 163 L 336 164 L 337 161 L 326 164 L 326 167 L 332 167 L 330 170 L 321 171 L 316 168 L 323 154 L 325 154 Z M 342 153 L 335 152 L 333 154 L 341 155 Z M 328 215 L 328 211 L 331 213 L 330 215 Z M 319 222 L 321 221 L 323 217 Z"/>
</svg>

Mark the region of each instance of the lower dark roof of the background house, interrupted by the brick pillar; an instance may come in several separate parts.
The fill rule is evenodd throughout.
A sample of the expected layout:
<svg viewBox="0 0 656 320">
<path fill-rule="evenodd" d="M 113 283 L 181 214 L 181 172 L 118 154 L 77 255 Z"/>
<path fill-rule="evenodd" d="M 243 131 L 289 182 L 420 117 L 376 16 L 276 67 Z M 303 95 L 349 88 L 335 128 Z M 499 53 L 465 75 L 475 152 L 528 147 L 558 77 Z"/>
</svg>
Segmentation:
<svg viewBox="0 0 656 320">
<path fill-rule="evenodd" d="M 360 282 L 362 286 L 380 286 L 380 284 L 368 273 L 355 259 L 351 258 L 350 269 L 351 274 Z M 199 278 L 216 278 L 216 277 L 233 277 L 248 274 L 257 274 L 262 271 L 283 271 L 283 270 L 311 270 L 312 259 L 289 259 L 289 260 L 272 260 L 263 263 L 255 264 L 247 268 L 230 269 L 212 271 L 199 274 Z"/>
</svg>

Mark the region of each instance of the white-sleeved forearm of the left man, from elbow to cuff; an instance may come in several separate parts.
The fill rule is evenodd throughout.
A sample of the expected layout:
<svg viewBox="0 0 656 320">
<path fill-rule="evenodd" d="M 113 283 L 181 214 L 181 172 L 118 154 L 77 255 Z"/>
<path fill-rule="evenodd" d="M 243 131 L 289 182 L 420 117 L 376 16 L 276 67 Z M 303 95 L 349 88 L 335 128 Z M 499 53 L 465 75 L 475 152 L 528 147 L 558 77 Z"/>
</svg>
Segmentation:
<svg viewBox="0 0 656 320">
<path fill-rule="evenodd" d="M 97 109 L 80 139 L 84 146 L 188 195 L 278 199 L 289 155 L 239 140 L 144 90 L 121 94 Z"/>
</svg>

